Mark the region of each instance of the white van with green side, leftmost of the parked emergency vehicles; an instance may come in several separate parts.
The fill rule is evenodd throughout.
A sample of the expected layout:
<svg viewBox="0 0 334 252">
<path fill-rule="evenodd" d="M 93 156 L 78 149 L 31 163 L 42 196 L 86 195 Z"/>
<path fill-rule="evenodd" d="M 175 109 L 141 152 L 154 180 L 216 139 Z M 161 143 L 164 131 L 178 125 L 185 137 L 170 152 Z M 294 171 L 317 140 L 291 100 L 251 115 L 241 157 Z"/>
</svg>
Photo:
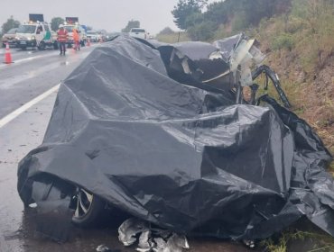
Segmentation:
<svg viewBox="0 0 334 252">
<path fill-rule="evenodd" d="M 46 22 L 29 22 L 20 25 L 16 31 L 16 45 L 21 49 L 53 47 L 58 49 L 57 34 Z"/>
</svg>

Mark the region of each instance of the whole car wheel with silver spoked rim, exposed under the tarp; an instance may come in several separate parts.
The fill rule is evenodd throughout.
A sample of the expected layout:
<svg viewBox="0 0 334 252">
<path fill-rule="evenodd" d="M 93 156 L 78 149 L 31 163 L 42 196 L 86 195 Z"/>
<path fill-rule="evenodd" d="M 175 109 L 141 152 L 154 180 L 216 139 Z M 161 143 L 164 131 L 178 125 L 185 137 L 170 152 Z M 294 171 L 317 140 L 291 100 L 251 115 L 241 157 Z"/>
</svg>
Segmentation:
<svg viewBox="0 0 334 252">
<path fill-rule="evenodd" d="M 76 208 L 72 217 L 73 224 L 81 228 L 95 226 L 101 213 L 105 210 L 106 202 L 83 188 L 77 190 L 75 200 Z"/>
</svg>

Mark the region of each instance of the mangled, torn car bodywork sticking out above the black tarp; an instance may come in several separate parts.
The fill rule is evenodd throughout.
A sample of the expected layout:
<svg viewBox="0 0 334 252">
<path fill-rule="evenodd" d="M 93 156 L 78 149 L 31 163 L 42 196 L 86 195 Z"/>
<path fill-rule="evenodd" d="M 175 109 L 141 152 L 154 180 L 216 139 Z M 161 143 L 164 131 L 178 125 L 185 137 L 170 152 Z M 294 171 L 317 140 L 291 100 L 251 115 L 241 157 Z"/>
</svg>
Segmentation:
<svg viewBox="0 0 334 252">
<path fill-rule="evenodd" d="M 245 86 L 252 86 L 259 76 L 252 73 L 251 67 L 255 64 L 254 72 L 264 73 L 266 79 L 272 80 L 283 105 L 290 108 L 291 104 L 278 78 L 271 75 L 274 71 L 269 67 L 264 70 L 264 66 L 260 65 L 265 56 L 255 47 L 255 42 L 241 33 L 217 40 L 213 45 L 203 42 L 180 42 L 172 45 L 153 43 L 151 46 L 159 49 L 168 75 L 172 79 L 210 92 L 224 93 L 224 96 L 229 96 L 233 90 L 237 94 L 234 103 L 247 103 L 242 90 Z M 256 93 L 257 89 L 253 88 L 253 92 Z M 249 103 L 255 104 L 255 99 Z"/>
</svg>

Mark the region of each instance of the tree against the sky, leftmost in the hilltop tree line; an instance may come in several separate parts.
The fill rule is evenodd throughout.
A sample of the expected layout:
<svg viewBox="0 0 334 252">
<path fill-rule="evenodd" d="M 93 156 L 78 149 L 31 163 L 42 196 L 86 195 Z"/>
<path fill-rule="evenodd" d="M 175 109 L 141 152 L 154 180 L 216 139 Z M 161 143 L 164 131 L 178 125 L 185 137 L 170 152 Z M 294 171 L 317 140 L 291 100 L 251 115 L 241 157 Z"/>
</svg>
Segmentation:
<svg viewBox="0 0 334 252">
<path fill-rule="evenodd" d="M 179 0 L 178 4 L 174 6 L 172 15 L 174 16 L 174 23 L 182 30 L 189 27 L 187 18 L 192 15 L 201 14 L 201 10 L 206 6 L 208 0 Z"/>
</svg>

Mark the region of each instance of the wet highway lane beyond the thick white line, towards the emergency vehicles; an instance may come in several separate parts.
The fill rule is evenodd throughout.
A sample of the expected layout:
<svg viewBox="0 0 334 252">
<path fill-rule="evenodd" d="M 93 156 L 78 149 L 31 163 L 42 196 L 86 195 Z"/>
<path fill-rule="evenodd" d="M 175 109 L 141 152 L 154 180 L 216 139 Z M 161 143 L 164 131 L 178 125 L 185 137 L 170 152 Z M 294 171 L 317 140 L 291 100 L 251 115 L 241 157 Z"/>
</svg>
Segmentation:
<svg viewBox="0 0 334 252">
<path fill-rule="evenodd" d="M 94 47 L 75 51 L 61 57 L 56 50 L 35 53 L 17 63 L 0 65 L 0 118 L 42 94 L 69 76 Z M 22 55 L 21 55 L 22 57 Z"/>
</svg>

